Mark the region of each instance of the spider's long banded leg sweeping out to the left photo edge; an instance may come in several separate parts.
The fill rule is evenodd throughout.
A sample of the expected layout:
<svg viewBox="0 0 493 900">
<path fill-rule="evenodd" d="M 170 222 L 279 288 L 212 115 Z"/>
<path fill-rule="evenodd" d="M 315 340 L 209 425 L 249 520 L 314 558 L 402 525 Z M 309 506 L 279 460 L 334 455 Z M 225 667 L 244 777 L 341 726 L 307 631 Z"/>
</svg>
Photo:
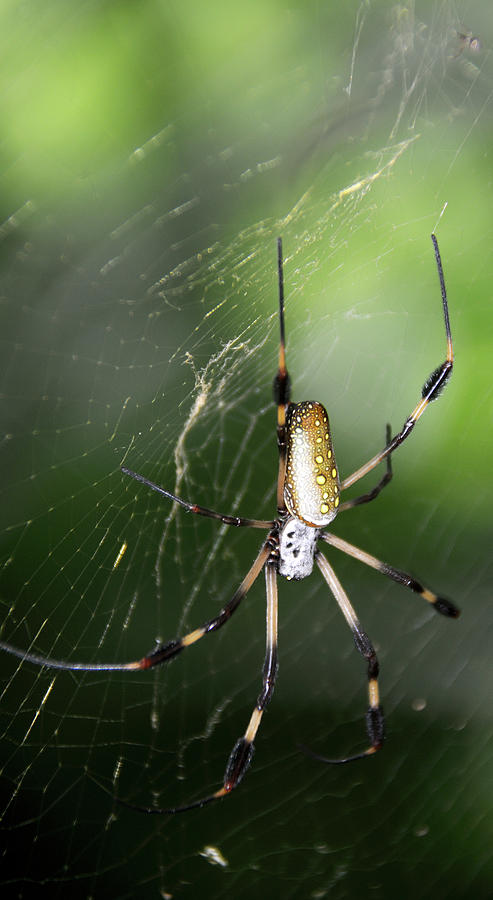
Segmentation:
<svg viewBox="0 0 493 900">
<path fill-rule="evenodd" d="M 48 669 L 66 669 L 69 671 L 81 672 L 125 672 L 135 671 L 139 669 L 152 669 L 154 666 L 159 666 L 161 665 L 161 663 L 173 659 L 173 657 L 177 656 L 178 653 L 181 653 L 181 651 L 185 650 L 186 647 L 190 647 L 192 644 L 195 644 L 198 640 L 200 640 L 200 638 L 204 637 L 204 635 L 210 634 L 211 632 L 217 631 L 219 628 L 222 628 L 222 626 L 226 624 L 228 619 L 230 619 L 233 613 L 238 609 L 238 606 L 243 600 L 243 597 L 248 593 L 255 579 L 260 574 L 271 552 L 272 542 L 267 539 L 267 541 L 265 541 L 265 543 L 263 544 L 260 553 L 257 555 L 257 558 L 255 559 L 252 567 L 241 582 L 239 588 L 235 591 L 235 593 L 231 597 L 231 600 L 226 603 L 226 605 L 222 608 L 217 616 L 209 619 L 209 621 L 205 622 L 204 625 L 202 625 L 200 628 L 195 628 L 193 631 L 190 631 L 188 634 L 184 635 L 181 638 L 177 638 L 173 641 L 168 641 L 167 644 L 163 644 L 157 647 L 157 649 L 153 650 L 152 653 L 148 653 L 147 656 L 143 656 L 141 659 L 135 660 L 133 662 L 78 663 L 70 662 L 68 660 L 51 659 L 50 657 L 40 656 L 37 653 L 30 653 L 29 651 L 21 650 L 18 647 L 13 647 L 11 644 L 7 644 L 4 641 L 0 641 L 0 650 L 5 650 L 7 653 L 12 654 L 12 656 L 19 657 L 23 662 L 31 662 L 37 666 L 45 666 Z"/>
</svg>

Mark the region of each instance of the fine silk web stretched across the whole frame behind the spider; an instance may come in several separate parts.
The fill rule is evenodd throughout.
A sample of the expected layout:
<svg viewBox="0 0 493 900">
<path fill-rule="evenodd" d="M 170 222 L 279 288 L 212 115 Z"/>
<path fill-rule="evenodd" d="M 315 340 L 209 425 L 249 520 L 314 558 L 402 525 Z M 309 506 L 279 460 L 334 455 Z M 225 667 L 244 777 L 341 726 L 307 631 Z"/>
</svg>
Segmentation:
<svg viewBox="0 0 493 900">
<path fill-rule="evenodd" d="M 338 6 L 5 5 L 2 639 L 126 661 L 231 596 L 260 533 L 120 466 L 272 517 L 279 234 L 294 398 L 327 405 L 346 475 L 444 358 L 437 230 L 456 371 L 392 485 L 334 531 L 463 617 L 326 549 L 379 652 L 385 751 L 331 768 L 297 749 L 364 745 L 365 675 L 317 575 L 280 583 L 251 771 L 172 819 L 115 798 L 221 784 L 261 683 L 263 578 L 150 673 L 2 654 L 4 896 L 491 896 L 489 4 Z"/>
</svg>

